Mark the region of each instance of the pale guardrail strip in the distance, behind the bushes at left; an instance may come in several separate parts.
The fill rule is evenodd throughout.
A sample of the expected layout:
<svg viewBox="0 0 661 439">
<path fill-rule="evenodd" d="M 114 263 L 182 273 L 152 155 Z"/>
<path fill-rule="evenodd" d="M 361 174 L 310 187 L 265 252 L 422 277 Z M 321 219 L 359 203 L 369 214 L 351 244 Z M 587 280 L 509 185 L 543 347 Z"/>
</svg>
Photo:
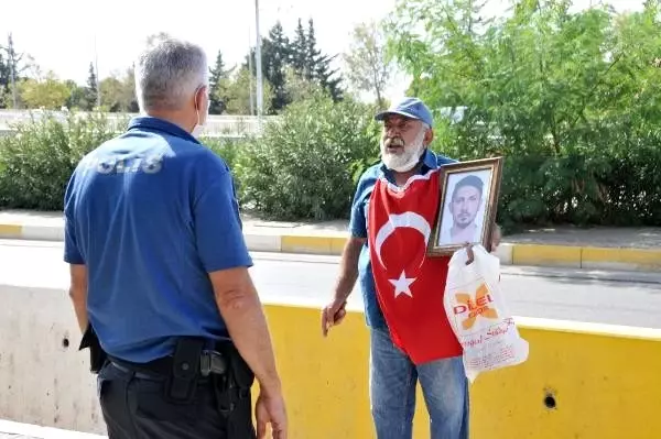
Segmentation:
<svg viewBox="0 0 661 439">
<path fill-rule="evenodd" d="M 53 117 L 65 122 L 69 117 L 68 111 L 43 111 L 43 110 L 0 110 L 0 131 L 11 132 L 14 125 L 26 123 L 44 117 Z M 87 111 L 76 111 L 77 118 L 89 116 Z M 116 131 L 122 131 L 127 120 L 138 113 L 105 113 L 105 118 Z M 274 116 L 262 117 L 262 124 L 275 119 Z M 209 114 L 204 128 L 204 134 L 209 136 L 238 138 L 247 134 L 260 134 L 260 120 L 257 116 L 218 116 Z"/>
</svg>

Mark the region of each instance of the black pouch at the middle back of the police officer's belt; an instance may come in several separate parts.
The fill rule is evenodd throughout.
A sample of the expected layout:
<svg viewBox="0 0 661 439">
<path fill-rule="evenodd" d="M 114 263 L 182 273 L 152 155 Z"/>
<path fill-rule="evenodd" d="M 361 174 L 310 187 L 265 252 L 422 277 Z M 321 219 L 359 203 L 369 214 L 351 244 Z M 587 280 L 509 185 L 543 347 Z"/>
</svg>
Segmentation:
<svg viewBox="0 0 661 439">
<path fill-rule="evenodd" d="M 165 385 L 165 397 L 174 403 L 191 403 L 199 380 L 199 361 L 204 339 L 182 337 L 176 342 L 172 373 Z"/>
</svg>

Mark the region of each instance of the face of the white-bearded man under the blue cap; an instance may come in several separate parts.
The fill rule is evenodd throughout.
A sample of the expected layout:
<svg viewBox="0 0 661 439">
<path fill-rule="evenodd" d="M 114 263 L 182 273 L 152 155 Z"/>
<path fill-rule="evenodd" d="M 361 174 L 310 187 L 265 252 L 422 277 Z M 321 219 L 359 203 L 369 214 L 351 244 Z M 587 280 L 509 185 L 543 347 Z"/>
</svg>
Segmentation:
<svg viewBox="0 0 661 439">
<path fill-rule="evenodd" d="M 420 157 L 424 149 L 425 130 L 422 122 L 391 114 L 383 120 L 381 156 L 389 168 L 399 168 Z M 414 157 L 414 158 L 413 158 Z"/>
</svg>

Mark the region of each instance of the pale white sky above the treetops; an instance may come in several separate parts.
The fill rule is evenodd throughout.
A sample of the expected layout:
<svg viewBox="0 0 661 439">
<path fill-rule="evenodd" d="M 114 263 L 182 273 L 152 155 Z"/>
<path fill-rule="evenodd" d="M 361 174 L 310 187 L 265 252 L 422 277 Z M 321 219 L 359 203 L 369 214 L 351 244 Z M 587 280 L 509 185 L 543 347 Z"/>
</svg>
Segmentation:
<svg viewBox="0 0 661 439">
<path fill-rule="evenodd" d="M 598 0 L 592 0 L 596 3 Z M 642 0 L 609 0 L 618 10 L 638 9 Z M 12 32 L 17 51 L 30 54 L 43 73 L 53 70 L 62 79 L 85 84 L 89 63 L 95 61 L 105 78 L 123 73 L 148 35 L 166 32 L 199 44 L 215 61 L 220 50 L 226 65 L 241 63 L 254 45 L 254 0 L 22 0 L 2 6 L 0 44 Z M 490 0 L 498 13 L 509 0 Z M 576 8 L 590 0 L 574 0 Z M 170 7 L 165 7 L 169 4 Z M 315 22 L 323 53 L 347 51 L 353 28 L 380 20 L 392 11 L 395 0 L 260 0 L 260 30 L 266 35 L 280 20 L 292 34 L 297 19 Z M 174 8 L 176 6 L 176 8 Z M 389 92 L 401 95 L 405 78 L 394 79 Z"/>
</svg>

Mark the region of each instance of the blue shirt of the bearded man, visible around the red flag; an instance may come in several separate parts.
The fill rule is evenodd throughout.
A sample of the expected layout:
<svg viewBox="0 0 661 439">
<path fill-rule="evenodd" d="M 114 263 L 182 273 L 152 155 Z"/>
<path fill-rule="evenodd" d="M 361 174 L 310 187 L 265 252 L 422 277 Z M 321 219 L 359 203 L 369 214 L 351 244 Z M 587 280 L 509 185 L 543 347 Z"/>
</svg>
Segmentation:
<svg viewBox="0 0 661 439">
<path fill-rule="evenodd" d="M 429 169 L 436 169 L 437 167 L 449 163 L 456 163 L 456 161 L 435 154 L 427 149 L 422 156 L 422 166 L 419 168 L 419 173 L 425 174 Z M 358 281 L 360 283 L 360 290 L 362 292 L 362 303 L 365 304 L 365 318 L 367 325 L 372 328 L 384 329 L 387 326 L 379 303 L 377 301 L 375 279 L 369 262 L 369 243 L 367 240 L 369 198 L 377 179 L 381 176 L 386 176 L 390 183 L 394 184 L 394 175 L 383 164 L 376 164 L 369 167 L 360 177 L 351 206 L 349 230 L 353 237 L 366 239 L 365 244 L 360 250 L 360 257 L 358 259 Z"/>
</svg>

